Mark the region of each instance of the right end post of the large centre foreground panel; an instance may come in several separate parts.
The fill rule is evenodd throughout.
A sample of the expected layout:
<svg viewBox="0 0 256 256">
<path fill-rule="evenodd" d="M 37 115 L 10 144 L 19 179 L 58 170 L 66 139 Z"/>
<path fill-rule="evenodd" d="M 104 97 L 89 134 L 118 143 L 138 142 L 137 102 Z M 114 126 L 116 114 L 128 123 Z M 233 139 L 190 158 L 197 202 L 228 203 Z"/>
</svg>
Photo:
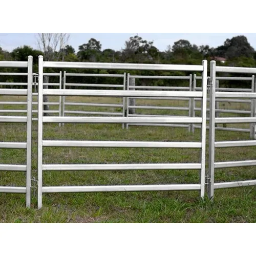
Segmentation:
<svg viewBox="0 0 256 256">
<path fill-rule="evenodd" d="M 205 194 L 205 157 L 206 157 L 206 112 L 207 112 L 207 60 L 203 60 L 203 73 L 202 73 L 202 104 L 201 104 L 201 113 L 202 113 L 202 125 L 201 125 L 201 141 L 202 141 L 202 150 L 201 150 L 201 198 L 204 198 Z"/>
</svg>

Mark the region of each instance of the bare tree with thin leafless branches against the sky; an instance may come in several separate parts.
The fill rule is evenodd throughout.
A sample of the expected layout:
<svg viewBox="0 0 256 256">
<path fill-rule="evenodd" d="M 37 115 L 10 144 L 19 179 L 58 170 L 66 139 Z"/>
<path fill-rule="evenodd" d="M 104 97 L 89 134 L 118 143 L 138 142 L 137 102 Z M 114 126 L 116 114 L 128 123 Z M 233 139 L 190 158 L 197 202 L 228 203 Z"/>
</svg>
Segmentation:
<svg viewBox="0 0 256 256">
<path fill-rule="evenodd" d="M 70 38 L 69 33 L 38 33 L 37 44 L 39 49 L 44 52 L 47 61 L 63 59 L 61 49 L 67 45 Z"/>
</svg>

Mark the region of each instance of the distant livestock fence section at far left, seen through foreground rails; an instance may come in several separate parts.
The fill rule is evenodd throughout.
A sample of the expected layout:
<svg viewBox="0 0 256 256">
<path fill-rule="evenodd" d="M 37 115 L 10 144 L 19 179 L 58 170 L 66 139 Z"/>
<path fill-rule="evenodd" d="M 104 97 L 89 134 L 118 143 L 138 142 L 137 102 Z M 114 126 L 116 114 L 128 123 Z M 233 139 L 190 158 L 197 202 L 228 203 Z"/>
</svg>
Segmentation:
<svg viewBox="0 0 256 256">
<path fill-rule="evenodd" d="M 18 61 L 17 61 L 18 63 Z M 45 88 L 48 88 L 48 87 L 58 87 L 59 89 L 61 89 L 61 72 L 59 73 L 45 73 L 44 74 L 45 76 L 57 76 L 59 77 L 59 82 L 57 83 L 49 83 L 49 82 L 44 82 L 44 87 Z M 24 77 L 25 79 L 27 78 L 28 76 L 28 73 L 8 73 L 8 72 L 2 72 L 0 73 L 0 77 L 10 77 L 10 78 L 13 78 L 15 76 L 22 76 Z M 37 74 L 36 73 L 33 73 L 33 81 L 32 82 L 32 85 L 34 86 L 34 92 L 32 92 L 32 95 L 33 95 L 33 100 L 32 100 L 32 106 L 38 104 L 37 102 L 37 96 L 38 96 L 38 93 L 37 93 L 37 86 L 38 86 L 38 83 L 36 82 L 36 77 L 37 77 Z M 14 88 L 26 88 L 28 85 L 28 82 L 2 82 L 0 81 L 0 88 L 6 88 L 6 89 L 14 89 Z M 11 114 L 17 114 L 17 115 L 23 115 L 23 114 L 26 114 L 27 113 L 27 110 L 24 109 L 9 109 L 8 106 L 21 106 L 21 105 L 24 105 L 26 107 L 27 105 L 27 102 L 26 101 L 0 101 L 0 106 L 5 106 L 7 107 L 6 109 L 0 109 L 0 113 L 11 113 Z M 45 106 L 52 106 L 52 105 L 57 105 L 58 106 L 58 109 L 57 110 L 49 110 L 48 108 L 45 108 L 44 109 L 44 114 L 58 114 L 59 116 L 61 116 L 61 97 L 59 97 L 59 100 L 58 102 L 48 102 L 48 100 L 46 102 L 44 102 L 44 105 Z M 36 117 L 34 117 L 32 115 L 32 121 L 37 121 L 37 110 L 33 109 L 32 108 L 32 113 L 33 114 L 36 114 Z"/>
</svg>

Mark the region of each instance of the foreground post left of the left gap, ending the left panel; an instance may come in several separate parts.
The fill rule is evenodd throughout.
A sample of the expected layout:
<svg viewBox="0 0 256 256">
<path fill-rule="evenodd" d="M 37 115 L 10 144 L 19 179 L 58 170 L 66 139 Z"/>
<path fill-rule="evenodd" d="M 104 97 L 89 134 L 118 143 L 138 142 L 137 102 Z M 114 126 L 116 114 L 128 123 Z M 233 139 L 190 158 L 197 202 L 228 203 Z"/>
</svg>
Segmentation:
<svg viewBox="0 0 256 256">
<path fill-rule="evenodd" d="M 33 57 L 28 57 L 26 206 L 31 204 Z"/>
</svg>

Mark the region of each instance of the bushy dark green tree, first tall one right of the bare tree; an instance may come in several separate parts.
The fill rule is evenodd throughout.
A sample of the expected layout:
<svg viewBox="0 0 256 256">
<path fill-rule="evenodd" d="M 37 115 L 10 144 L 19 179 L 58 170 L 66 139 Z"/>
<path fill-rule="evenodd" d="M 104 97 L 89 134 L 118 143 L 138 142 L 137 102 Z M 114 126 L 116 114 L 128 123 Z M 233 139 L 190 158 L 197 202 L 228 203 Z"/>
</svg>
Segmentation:
<svg viewBox="0 0 256 256">
<path fill-rule="evenodd" d="M 96 62 L 100 58 L 101 44 L 94 38 L 91 38 L 87 44 L 79 46 L 77 52 L 77 57 L 81 61 L 91 61 Z"/>
</svg>

